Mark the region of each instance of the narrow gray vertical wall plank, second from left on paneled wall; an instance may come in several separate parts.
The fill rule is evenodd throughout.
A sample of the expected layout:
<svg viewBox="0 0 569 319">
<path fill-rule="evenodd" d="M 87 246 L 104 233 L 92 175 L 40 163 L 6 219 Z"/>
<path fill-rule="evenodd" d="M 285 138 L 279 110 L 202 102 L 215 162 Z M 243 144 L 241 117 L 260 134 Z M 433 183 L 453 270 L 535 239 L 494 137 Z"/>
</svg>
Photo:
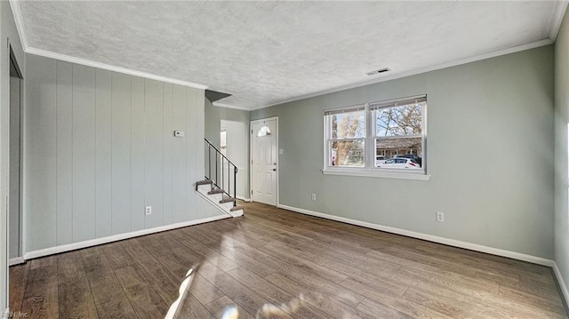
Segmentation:
<svg viewBox="0 0 569 319">
<path fill-rule="evenodd" d="M 73 65 L 57 61 L 57 244 L 73 242 Z"/>
</svg>

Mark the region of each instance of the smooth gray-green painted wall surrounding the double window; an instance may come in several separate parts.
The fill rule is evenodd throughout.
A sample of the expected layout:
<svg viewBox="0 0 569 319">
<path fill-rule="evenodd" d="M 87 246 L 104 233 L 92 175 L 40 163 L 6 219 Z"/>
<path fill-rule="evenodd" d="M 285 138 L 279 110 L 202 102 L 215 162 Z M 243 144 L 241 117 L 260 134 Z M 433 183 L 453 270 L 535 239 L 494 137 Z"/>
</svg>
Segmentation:
<svg viewBox="0 0 569 319">
<path fill-rule="evenodd" d="M 423 93 L 429 181 L 322 174 L 325 109 Z M 553 258 L 552 45 L 262 108 L 251 119 L 269 116 L 278 116 L 284 150 L 281 204 Z"/>
</svg>

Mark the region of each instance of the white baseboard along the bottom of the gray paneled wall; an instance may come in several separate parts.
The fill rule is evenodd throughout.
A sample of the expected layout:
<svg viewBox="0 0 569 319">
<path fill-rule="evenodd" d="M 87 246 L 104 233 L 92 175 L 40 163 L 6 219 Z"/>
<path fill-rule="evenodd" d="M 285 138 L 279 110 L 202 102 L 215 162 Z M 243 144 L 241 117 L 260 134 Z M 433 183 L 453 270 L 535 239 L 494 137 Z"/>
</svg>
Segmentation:
<svg viewBox="0 0 569 319">
<path fill-rule="evenodd" d="M 110 235 L 107 237 L 96 238 L 96 239 L 92 239 L 92 240 L 88 240 L 88 241 L 84 241 L 84 242 L 79 242 L 79 243 L 68 243 L 68 244 L 64 244 L 64 245 L 60 245 L 60 246 L 45 248 L 42 250 L 28 251 L 28 252 L 24 253 L 23 259 L 28 260 L 28 259 L 34 259 L 34 258 L 49 256 L 52 254 L 65 252 L 65 251 L 75 251 L 75 250 L 82 249 L 82 248 L 97 246 L 97 245 L 100 245 L 103 243 L 112 243 L 112 242 L 116 242 L 116 241 L 120 241 L 120 240 L 124 240 L 124 239 L 128 239 L 128 238 L 138 237 L 141 235 L 150 235 L 150 234 L 154 234 L 154 233 L 163 232 L 166 230 L 172 230 L 172 229 L 176 229 L 176 228 L 180 228 L 180 227 L 188 227 L 188 226 L 192 226 L 192 225 L 203 224 L 203 223 L 207 223 L 207 222 L 214 221 L 214 220 L 227 219 L 230 217 L 231 216 L 229 216 L 227 214 L 223 214 L 223 215 L 209 217 L 206 219 L 182 221 L 180 223 L 175 223 L 175 224 L 171 224 L 171 225 L 148 228 L 148 229 L 141 229 L 141 230 L 133 231 L 130 233 L 124 233 L 124 234 L 118 234 L 118 235 Z"/>
</svg>

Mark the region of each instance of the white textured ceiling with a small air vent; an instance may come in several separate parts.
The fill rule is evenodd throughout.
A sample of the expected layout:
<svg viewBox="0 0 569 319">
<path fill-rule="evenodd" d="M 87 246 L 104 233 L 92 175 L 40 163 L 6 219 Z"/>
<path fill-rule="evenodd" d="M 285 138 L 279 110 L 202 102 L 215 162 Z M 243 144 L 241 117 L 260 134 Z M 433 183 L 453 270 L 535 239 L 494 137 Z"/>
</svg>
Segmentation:
<svg viewBox="0 0 569 319">
<path fill-rule="evenodd" d="M 250 109 L 546 39 L 565 10 L 553 1 L 13 5 L 28 48 L 204 84 Z M 365 75 L 383 67 L 391 71 Z"/>
</svg>

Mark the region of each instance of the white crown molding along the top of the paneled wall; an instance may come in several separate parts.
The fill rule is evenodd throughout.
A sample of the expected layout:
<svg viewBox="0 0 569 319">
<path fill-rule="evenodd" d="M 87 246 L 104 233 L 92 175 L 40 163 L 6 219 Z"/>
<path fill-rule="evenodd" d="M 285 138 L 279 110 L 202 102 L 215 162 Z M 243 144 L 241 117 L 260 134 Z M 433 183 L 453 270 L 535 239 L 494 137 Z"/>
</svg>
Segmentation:
<svg viewBox="0 0 569 319">
<path fill-rule="evenodd" d="M 130 68 L 121 68 L 121 67 L 111 66 L 109 64 L 95 62 L 92 60 L 84 60 L 84 59 L 80 59 L 80 58 L 75 58 L 75 57 L 65 55 L 65 54 L 54 53 L 54 52 L 40 50 L 40 49 L 36 49 L 36 48 L 30 48 L 30 47 L 28 47 L 28 50 L 25 50 L 25 51 L 29 54 L 36 54 L 36 55 L 40 55 L 40 56 L 43 56 L 46 58 L 52 58 L 55 60 L 67 61 L 67 62 L 71 62 L 71 63 L 75 63 L 75 64 L 84 65 L 87 67 L 102 68 L 102 69 L 105 69 L 108 71 L 124 73 L 124 74 L 131 75 L 131 76 L 140 76 L 140 77 L 145 77 L 145 78 L 156 80 L 156 81 L 162 81 L 162 82 L 167 82 L 167 83 L 171 83 L 171 84 L 180 84 L 183 86 L 188 86 L 188 87 L 192 87 L 192 88 L 199 89 L 199 90 L 207 89 L 207 85 L 203 85 L 203 84 L 195 84 L 192 82 L 176 80 L 176 79 L 173 79 L 171 77 L 156 76 L 156 75 L 146 73 L 146 72 L 135 71 L 135 70 L 132 70 Z"/>
</svg>

